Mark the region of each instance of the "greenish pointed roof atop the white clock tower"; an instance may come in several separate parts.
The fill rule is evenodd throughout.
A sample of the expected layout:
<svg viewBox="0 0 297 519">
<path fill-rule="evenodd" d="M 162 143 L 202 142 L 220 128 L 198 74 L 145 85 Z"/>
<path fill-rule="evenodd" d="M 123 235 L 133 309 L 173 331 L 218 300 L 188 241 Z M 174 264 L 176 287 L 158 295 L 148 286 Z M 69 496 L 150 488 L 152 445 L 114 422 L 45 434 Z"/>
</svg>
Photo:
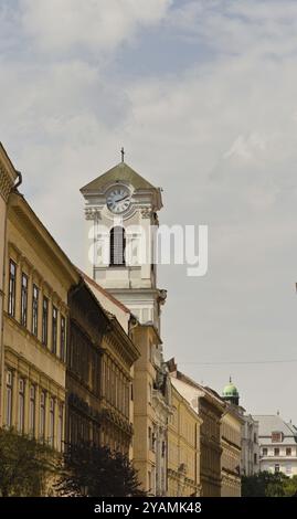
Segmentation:
<svg viewBox="0 0 297 519">
<path fill-rule="evenodd" d="M 130 168 L 130 166 L 126 165 L 126 162 L 119 162 L 117 166 L 106 171 L 106 173 L 100 174 L 95 180 L 84 186 L 81 192 L 104 190 L 105 186 L 113 181 L 126 181 L 131 183 L 135 189 L 157 189 Z"/>
</svg>

